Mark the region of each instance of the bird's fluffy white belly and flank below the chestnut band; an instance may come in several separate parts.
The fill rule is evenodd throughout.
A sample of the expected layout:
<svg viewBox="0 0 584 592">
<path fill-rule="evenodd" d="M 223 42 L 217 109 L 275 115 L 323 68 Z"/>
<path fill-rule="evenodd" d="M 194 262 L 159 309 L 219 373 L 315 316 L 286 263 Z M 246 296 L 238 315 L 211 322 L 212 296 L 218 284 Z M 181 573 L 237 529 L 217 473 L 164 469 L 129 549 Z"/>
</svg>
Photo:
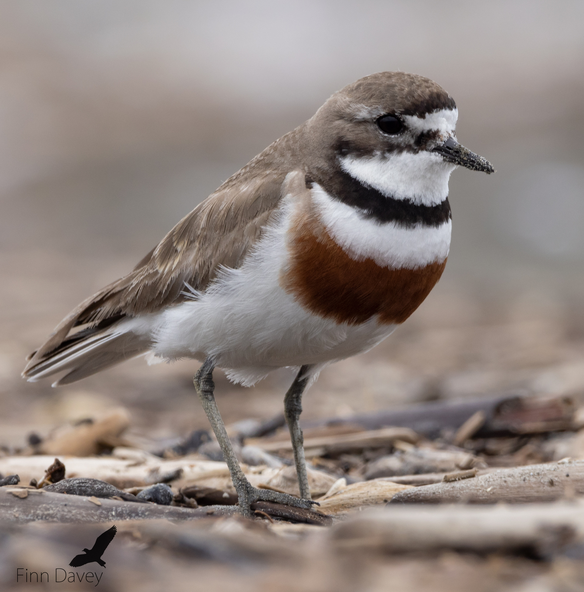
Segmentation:
<svg viewBox="0 0 584 592">
<path fill-rule="evenodd" d="M 241 268 L 225 270 L 196 300 L 152 318 L 156 356 L 214 356 L 229 378 L 250 385 L 275 368 L 322 364 L 364 352 L 395 329 L 375 318 L 355 326 L 316 316 L 280 287 L 290 207 L 283 207 L 280 220 L 267 229 Z"/>
</svg>

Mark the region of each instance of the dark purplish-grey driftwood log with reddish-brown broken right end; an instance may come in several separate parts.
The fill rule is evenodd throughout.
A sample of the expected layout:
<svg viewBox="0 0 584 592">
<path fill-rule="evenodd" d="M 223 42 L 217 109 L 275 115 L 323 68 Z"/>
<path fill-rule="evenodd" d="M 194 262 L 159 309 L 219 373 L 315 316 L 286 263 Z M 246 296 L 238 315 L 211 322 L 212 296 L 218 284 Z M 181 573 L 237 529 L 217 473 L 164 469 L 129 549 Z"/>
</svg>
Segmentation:
<svg viewBox="0 0 584 592">
<path fill-rule="evenodd" d="M 567 397 L 534 398 L 503 395 L 462 401 L 437 401 L 403 409 L 389 409 L 359 414 L 343 419 L 307 422 L 303 427 L 359 425 L 366 430 L 384 426 L 409 427 L 434 439 L 443 432 L 456 432 L 478 412 L 484 422 L 472 437 L 495 437 L 534 434 L 575 429 L 575 405 Z"/>
</svg>

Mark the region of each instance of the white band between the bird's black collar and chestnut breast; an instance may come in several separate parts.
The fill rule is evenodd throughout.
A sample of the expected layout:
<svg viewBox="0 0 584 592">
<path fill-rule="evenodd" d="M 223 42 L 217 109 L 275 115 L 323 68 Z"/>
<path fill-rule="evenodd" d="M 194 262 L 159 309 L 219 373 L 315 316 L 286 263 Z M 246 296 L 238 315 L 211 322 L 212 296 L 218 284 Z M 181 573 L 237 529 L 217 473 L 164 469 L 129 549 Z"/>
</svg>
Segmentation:
<svg viewBox="0 0 584 592">
<path fill-rule="evenodd" d="M 390 269 L 419 269 L 442 263 L 450 249 L 452 221 L 440 226 L 416 224 L 407 229 L 395 222 L 380 224 L 355 208 L 335 200 L 317 184 L 312 197 L 320 220 L 335 242 L 356 261 L 373 259 Z"/>
</svg>

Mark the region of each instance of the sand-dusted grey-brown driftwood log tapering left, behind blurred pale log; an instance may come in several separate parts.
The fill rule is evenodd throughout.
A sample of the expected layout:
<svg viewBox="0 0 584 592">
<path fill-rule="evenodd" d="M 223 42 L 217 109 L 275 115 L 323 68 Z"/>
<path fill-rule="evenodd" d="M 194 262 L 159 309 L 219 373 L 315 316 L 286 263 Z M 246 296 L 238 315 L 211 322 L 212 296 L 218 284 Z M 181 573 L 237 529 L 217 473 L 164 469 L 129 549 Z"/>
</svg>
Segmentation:
<svg viewBox="0 0 584 592">
<path fill-rule="evenodd" d="M 396 494 L 391 504 L 530 503 L 584 494 L 584 461 L 499 469 L 462 481 L 422 485 Z"/>
</svg>

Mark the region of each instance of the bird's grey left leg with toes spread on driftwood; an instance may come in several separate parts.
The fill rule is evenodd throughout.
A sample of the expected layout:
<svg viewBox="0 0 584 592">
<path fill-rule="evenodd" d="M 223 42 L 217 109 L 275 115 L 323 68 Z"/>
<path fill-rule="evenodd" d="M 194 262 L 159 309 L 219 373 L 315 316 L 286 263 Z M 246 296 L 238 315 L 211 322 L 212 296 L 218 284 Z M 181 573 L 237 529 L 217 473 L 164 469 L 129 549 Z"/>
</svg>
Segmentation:
<svg viewBox="0 0 584 592">
<path fill-rule="evenodd" d="M 233 487 L 237 491 L 241 513 L 244 516 L 251 516 L 251 504 L 258 500 L 275 501 L 280 504 L 288 504 L 288 506 L 301 508 L 312 507 L 312 504 L 315 503 L 312 500 L 302 500 L 298 497 L 289 496 L 287 493 L 279 493 L 278 491 L 258 489 L 257 487 L 252 487 L 251 483 L 246 479 L 241 466 L 239 466 L 235 452 L 233 452 L 231 440 L 229 440 L 215 401 L 215 395 L 213 394 L 215 390 L 215 384 L 213 384 L 213 368 L 215 368 L 215 362 L 207 358 L 197 374 L 194 375 L 194 388 L 196 388 L 197 395 L 199 395 L 207 419 L 209 419 L 209 423 L 219 442 L 223 458 L 225 458 L 225 462 L 229 468 Z"/>
</svg>

